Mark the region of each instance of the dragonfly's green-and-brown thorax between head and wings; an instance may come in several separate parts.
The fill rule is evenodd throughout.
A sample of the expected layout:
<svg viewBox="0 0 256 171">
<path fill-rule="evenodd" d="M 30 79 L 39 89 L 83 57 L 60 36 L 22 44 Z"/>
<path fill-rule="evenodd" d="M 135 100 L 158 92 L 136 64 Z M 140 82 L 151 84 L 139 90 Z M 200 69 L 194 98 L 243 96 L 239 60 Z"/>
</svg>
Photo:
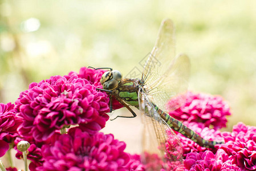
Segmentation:
<svg viewBox="0 0 256 171">
<path fill-rule="evenodd" d="M 116 89 L 117 96 L 125 103 L 138 107 L 139 79 L 123 79 Z"/>
</svg>

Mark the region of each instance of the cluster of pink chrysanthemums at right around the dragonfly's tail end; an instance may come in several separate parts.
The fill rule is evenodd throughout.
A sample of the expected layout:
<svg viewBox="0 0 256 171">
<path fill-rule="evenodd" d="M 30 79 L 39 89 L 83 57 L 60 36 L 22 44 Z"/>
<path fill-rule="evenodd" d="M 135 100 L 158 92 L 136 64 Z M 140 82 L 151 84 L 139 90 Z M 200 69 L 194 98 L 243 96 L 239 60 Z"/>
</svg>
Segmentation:
<svg viewBox="0 0 256 171">
<path fill-rule="evenodd" d="M 256 127 L 238 123 L 233 132 L 218 131 L 230 115 L 229 107 L 221 97 L 189 92 L 185 105 L 171 111 L 170 115 L 183 120 L 184 125 L 205 140 L 225 140 L 215 149 L 206 149 L 177 133 L 186 157 L 186 170 L 256 170 Z M 210 129 L 211 126 L 214 129 Z"/>
</svg>

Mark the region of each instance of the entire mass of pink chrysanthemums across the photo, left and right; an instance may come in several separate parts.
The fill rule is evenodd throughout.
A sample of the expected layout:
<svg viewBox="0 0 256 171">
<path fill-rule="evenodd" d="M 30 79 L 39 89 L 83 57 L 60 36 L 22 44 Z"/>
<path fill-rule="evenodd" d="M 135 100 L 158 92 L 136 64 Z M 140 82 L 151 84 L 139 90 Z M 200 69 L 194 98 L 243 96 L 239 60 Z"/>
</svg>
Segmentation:
<svg viewBox="0 0 256 171">
<path fill-rule="evenodd" d="M 102 88 L 100 78 L 104 72 L 83 67 L 79 74 L 52 76 L 31 83 L 15 105 L 0 104 L 0 156 L 10 143 L 17 150 L 17 144 L 25 140 L 30 143 L 27 158 L 31 171 L 256 170 L 256 127 L 238 123 L 233 132 L 220 132 L 218 129 L 226 127 L 229 107 L 221 97 L 202 93 L 189 92 L 185 104 L 169 114 L 205 140 L 225 140 L 224 144 L 206 149 L 168 130 L 168 139 L 159 147 L 166 149 L 163 156 L 167 161 L 157 154 L 124 152 L 123 141 L 99 133 L 109 112 L 108 93 L 97 89 Z M 111 100 L 113 109 L 123 107 L 115 97 Z M 170 100 L 169 105 L 179 104 L 175 100 Z M 68 128 L 67 133 L 61 135 L 63 128 Z M 22 155 L 17 151 L 15 156 Z M 147 162 L 142 163 L 142 159 Z"/>
</svg>

